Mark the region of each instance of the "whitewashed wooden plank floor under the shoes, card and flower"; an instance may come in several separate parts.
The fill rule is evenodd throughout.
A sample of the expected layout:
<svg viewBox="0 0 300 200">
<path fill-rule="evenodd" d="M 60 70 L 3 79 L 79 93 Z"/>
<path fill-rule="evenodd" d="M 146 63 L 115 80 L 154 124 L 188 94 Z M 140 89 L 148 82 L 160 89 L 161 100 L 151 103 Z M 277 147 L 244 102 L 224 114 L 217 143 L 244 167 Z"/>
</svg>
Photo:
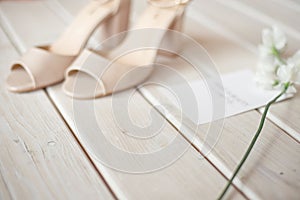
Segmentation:
<svg viewBox="0 0 300 200">
<path fill-rule="evenodd" d="M 204 154 L 202 131 L 192 137 L 190 128 L 178 129 L 177 119 L 153 108 L 153 102 L 166 101 L 158 86 L 135 92 L 129 106 L 133 121 L 141 126 L 151 123 L 151 116 L 165 123 L 160 134 L 148 140 L 133 139 L 118 128 L 111 96 L 97 99 L 99 127 L 120 149 L 156 152 L 174 138 L 192 144 L 171 165 L 132 174 L 111 169 L 95 157 L 87 132 L 76 128 L 73 102 L 61 85 L 27 94 L 5 89 L 9 64 L 32 45 L 54 41 L 87 2 L 0 1 L 0 199 L 215 199 L 250 143 L 262 110 L 226 119 L 217 144 Z M 133 22 L 145 2 L 134 1 Z M 299 18 L 298 0 L 194 0 L 187 11 L 185 33 L 202 44 L 225 73 L 255 68 L 261 30 L 273 24 L 285 30 L 289 53 L 300 49 Z M 195 78 L 178 60 L 164 62 Z M 152 78 L 159 77 L 170 78 L 159 73 Z M 299 100 L 300 93 L 272 107 L 227 199 L 300 199 Z M 188 127 L 186 119 L 182 123 Z M 127 164 L 136 166 L 134 160 Z"/>
</svg>

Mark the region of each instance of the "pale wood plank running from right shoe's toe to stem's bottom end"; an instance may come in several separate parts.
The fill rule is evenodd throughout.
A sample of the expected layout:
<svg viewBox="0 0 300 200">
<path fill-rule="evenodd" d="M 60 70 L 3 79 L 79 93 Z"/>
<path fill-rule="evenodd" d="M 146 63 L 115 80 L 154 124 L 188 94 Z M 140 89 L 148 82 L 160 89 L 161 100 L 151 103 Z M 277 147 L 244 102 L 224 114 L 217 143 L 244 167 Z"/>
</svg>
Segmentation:
<svg viewBox="0 0 300 200">
<path fill-rule="evenodd" d="M 74 123 L 74 118 L 71 115 L 74 112 L 71 107 L 72 101 L 68 97 L 65 97 L 61 92 L 60 86 L 51 88 L 49 91 L 54 101 L 58 102 L 59 110 L 65 116 L 72 129 L 76 130 L 77 125 Z M 112 111 L 111 101 L 111 97 L 101 98 L 94 102 L 94 106 L 96 115 L 99 116 L 99 120 L 97 121 L 98 127 L 101 128 L 107 140 L 119 149 L 131 153 L 151 154 L 172 144 L 175 137 L 181 137 L 169 124 L 165 124 L 159 134 L 147 140 L 128 137 L 124 134 L 124 131 L 120 130 L 120 127 L 118 127 L 119 124 L 114 121 L 114 111 Z M 158 121 L 165 121 L 156 112 L 151 117 L 149 116 L 153 108 L 138 93 L 132 97 L 129 107 L 132 120 L 139 126 L 151 124 L 151 117 L 152 119 L 156 119 L 156 123 Z M 124 129 L 123 127 L 122 130 L 128 131 L 128 129 Z M 128 131 L 128 133 L 131 132 Z M 151 173 L 130 174 L 118 172 L 103 166 L 97 160 L 97 157 L 94 156 L 95 152 L 91 150 L 90 143 L 85 142 L 91 138 L 87 138 L 88 136 L 84 132 L 76 132 L 76 135 L 119 198 L 198 199 L 201 197 L 203 199 L 215 199 L 225 184 L 225 179 L 192 147 L 182 157 L 178 158 L 176 162 L 166 168 Z M 98 141 L 98 144 L 101 145 L 97 135 L 93 135 L 92 139 Z M 185 143 L 183 138 L 182 142 Z M 107 149 L 107 151 L 109 150 Z M 114 156 L 113 153 L 106 153 Z M 124 165 L 132 165 L 134 167 L 140 161 L 136 160 L 133 161 L 135 163 L 128 163 L 125 160 L 124 162 L 126 162 Z M 157 160 L 156 162 L 163 162 L 163 160 Z M 140 164 L 147 165 L 142 162 Z M 242 198 L 236 191 L 232 191 L 229 195 L 230 197 L 228 198 Z"/>
</svg>

